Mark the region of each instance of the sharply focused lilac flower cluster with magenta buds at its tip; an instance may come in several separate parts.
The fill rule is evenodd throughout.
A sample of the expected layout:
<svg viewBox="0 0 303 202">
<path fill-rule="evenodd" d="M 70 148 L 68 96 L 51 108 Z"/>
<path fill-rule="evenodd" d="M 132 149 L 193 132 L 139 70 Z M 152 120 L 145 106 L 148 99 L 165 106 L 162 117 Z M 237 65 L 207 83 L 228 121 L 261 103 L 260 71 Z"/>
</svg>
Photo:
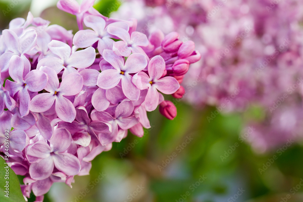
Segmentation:
<svg viewBox="0 0 303 202">
<path fill-rule="evenodd" d="M 94 1 L 60 0 L 76 15 L 73 35 L 42 18 L 16 18 L 0 36 L 0 152 L 9 133 L 12 170 L 25 176 L 23 195 L 43 201 L 54 182 L 71 186 L 112 142 L 150 128 L 147 111 L 168 119 L 177 111 L 163 94 L 181 98 L 189 65 L 201 58 L 175 32 L 149 38 L 135 19 L 107 18 Z M 83 24 L 86 26 L 83 28 Z M 159 92 L 160 91 L 160 92 Z"/>
</svg>

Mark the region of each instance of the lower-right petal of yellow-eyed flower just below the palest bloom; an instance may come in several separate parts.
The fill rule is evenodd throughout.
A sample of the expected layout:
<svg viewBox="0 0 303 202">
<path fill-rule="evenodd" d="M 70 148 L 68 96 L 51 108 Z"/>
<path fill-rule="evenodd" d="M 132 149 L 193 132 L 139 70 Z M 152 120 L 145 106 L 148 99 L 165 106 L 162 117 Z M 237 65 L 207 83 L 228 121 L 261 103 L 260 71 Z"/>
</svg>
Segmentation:
<svg viewBox="0 0 303 202">
<path fill-rule="evenodd" d="M 57 116 L 62 120 L 69 123 L 75 120 L 76 110 L 71 101 L 63 96 L 56 97 L 55 111 Z"/>
</svg>

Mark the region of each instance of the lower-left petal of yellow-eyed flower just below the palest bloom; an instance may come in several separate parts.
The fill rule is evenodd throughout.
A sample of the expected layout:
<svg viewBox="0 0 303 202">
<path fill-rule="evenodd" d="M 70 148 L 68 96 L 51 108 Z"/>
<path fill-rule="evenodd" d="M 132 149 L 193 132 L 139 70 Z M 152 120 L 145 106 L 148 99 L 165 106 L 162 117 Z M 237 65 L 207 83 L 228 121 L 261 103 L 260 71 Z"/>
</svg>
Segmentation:
<svg viewBox="0 0 303 202">
<path fill-rule="evenodd" d="M 42 93 L 36 95 L 29 106 L 29 110 L 33 112 L 45 112 L 49 110 L 55 101 L 55 96 L 52 93 Z"/>
</svg>

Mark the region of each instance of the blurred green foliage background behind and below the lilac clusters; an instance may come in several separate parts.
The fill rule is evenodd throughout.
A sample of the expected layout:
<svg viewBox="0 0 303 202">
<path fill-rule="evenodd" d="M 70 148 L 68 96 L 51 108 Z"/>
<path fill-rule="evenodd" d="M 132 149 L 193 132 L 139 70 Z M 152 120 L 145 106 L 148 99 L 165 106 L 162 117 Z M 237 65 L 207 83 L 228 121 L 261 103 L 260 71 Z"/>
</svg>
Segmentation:
<svg viewBox="0 0 303 202">
<path fill-rule="evenodd" d="M 8 11 L 12 2 L 18 3 Z M 94 7 L 108 16 L 121 3 L 101 0 Z M 0 11 L 8 13 L 0 15 L 0 30 L 31 11 L 75 33 L 74 16 L 55 4 L 55 0 L 1 0 Z M 262 108 L 218 114 L 211 106 L 172 101 L 178 110 L 173 121 L 158 112 L 148 113 L 151 128 L 145 129 L 144 137 L 129 134 L 114 142 L 111 151 L 92 161 L 89 176 L 75 176 L 72 189 L 55 183 L 45 201 L 303 201 L 302 142 L 290 139 L 260 154 L 245 141 L 255 130 L 247 120 L 262 120 Z"/>
</svg>

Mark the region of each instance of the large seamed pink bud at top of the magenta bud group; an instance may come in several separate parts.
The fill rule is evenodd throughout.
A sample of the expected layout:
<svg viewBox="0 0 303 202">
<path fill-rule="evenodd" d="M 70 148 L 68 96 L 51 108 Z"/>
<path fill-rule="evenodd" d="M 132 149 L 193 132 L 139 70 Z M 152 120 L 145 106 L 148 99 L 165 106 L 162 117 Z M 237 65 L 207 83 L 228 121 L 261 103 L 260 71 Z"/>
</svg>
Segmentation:
<svg viewBox="0 0 303 202">
<path fill-rule="evenodd" d="M 177 32 L 171 32 L 166 35 L 162 41 L 162 48 L 167 53 L 172 53 L 178 51 L 182 45 L 182 41 L 179 41 L 180 35 Z"/>
</svg>

